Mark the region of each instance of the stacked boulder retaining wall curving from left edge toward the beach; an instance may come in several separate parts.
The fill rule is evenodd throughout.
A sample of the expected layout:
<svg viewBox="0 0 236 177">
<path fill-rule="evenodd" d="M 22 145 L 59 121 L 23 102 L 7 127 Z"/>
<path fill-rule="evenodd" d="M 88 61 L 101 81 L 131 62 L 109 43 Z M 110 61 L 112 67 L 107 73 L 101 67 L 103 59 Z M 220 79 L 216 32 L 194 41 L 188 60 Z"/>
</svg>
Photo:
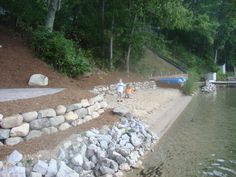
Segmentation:
<svg viewBox="0 0 236 177">
<path fill-rule="evenodd" d="M 55 133 L 99 117 L 107 107 L 102 95 L 68 106 L 4 117 L 0 114 L 0 143 L 15 145 L 43 134 Z"/>
</svg>

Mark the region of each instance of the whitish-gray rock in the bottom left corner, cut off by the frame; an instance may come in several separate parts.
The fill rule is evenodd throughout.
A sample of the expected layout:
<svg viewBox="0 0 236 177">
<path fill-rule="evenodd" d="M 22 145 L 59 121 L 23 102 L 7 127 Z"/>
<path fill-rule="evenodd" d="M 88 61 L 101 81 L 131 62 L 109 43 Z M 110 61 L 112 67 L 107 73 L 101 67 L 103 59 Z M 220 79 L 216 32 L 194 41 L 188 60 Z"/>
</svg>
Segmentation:
<svg viewBox="0 0 236 177">
<path fill-rule="evenodd" d="M 8 167 L 0 171 L 1 177 L 26 177 L 25 167 Z"/>
</svg>

